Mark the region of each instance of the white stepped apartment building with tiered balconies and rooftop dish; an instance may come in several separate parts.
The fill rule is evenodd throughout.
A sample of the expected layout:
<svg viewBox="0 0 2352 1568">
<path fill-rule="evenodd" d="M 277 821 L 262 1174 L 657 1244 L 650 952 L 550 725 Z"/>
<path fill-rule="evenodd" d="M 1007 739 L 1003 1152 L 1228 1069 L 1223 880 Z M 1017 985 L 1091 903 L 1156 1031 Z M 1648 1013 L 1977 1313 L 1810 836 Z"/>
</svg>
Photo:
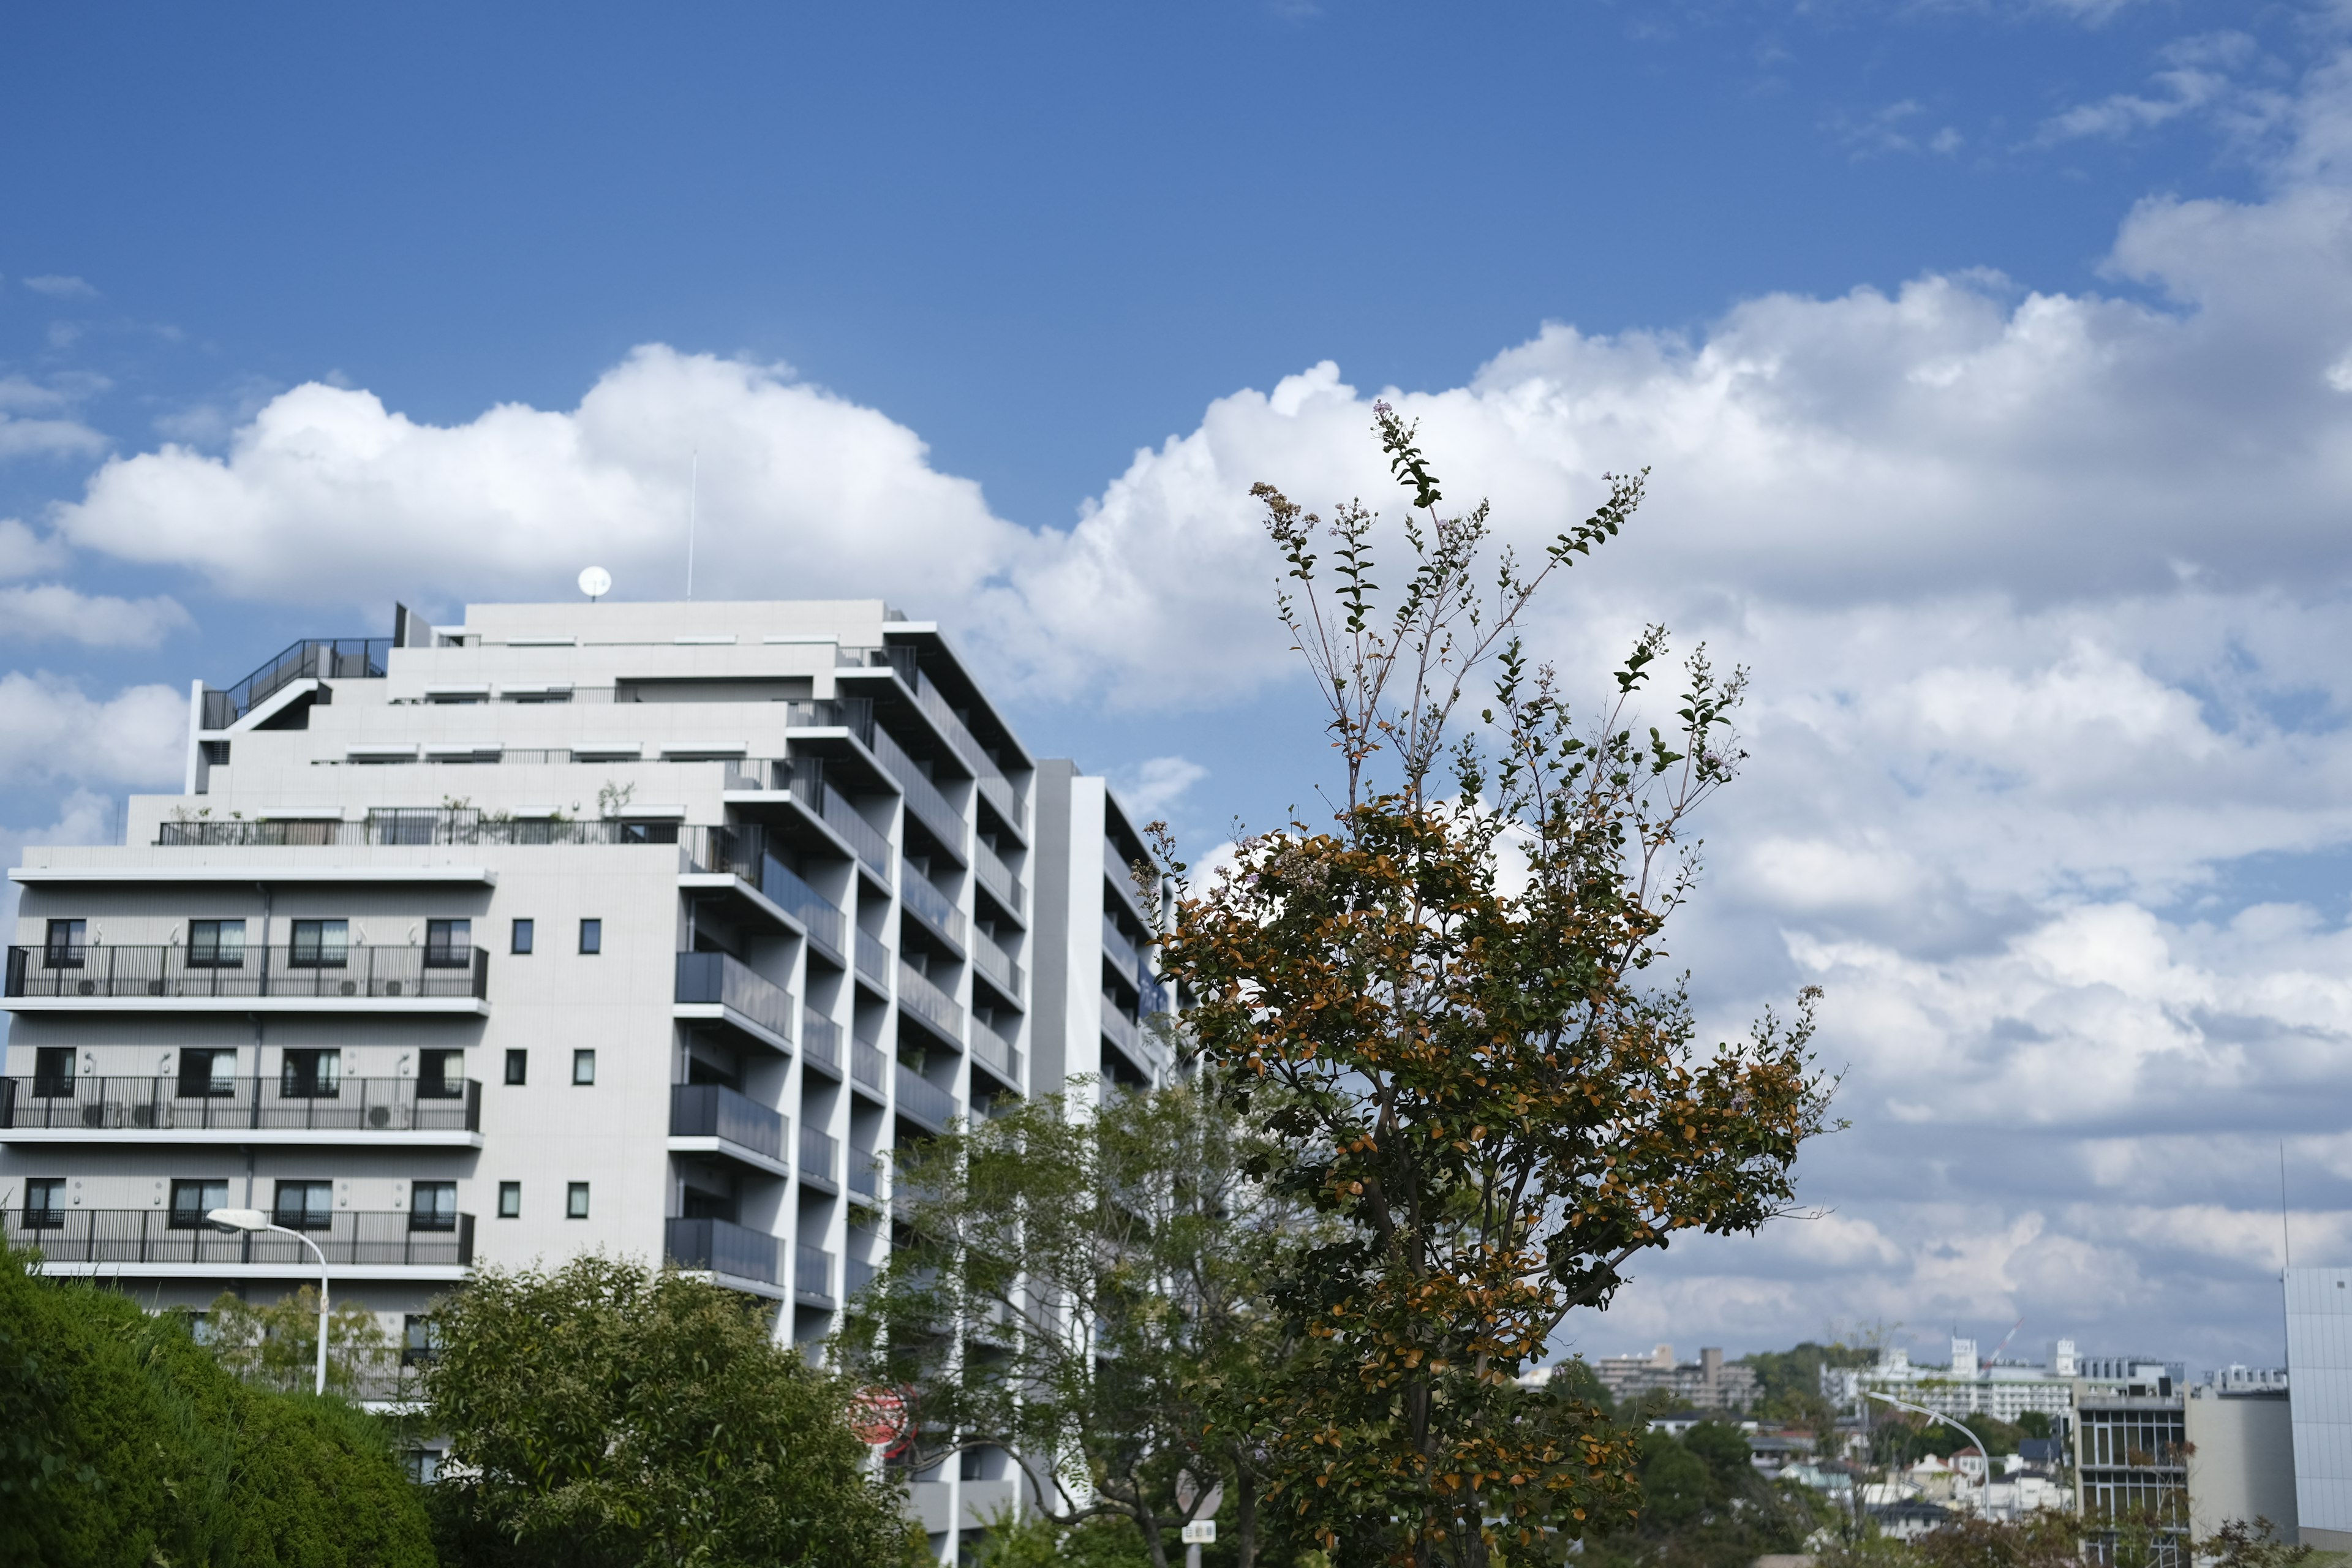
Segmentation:
<svg viewBox="0 0 2352 1568">
<path fill-rule="evenodd" d="M 668 1260 L 821 1338 L 889 1152 L 1167 1072 L 1101 778 L 880 602 L 475 604 L 191 691 L 176 797 L 28 849 L 12 1244 L 160 1305 L 315 1279 L 428 1349 L 477 1265 Z M 953 1552 L 1002 1465 L 922 1479 Z"/>
</svg>

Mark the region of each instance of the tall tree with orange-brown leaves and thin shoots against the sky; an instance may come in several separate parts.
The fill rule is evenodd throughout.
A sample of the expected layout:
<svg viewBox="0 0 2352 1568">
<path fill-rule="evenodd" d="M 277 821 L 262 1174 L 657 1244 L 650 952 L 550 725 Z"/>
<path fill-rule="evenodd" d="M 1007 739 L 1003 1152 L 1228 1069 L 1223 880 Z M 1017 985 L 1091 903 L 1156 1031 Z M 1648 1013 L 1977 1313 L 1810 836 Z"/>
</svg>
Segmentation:
<svg viewBox="0 0 2352 1568">
<path fill-rule="evenodd" d="M 1282 1147 L 1254 1171 L 1338 1232 L 1272 1281 L 1303 1347 L 1258 1389 L 1270 1497 L 1343 1561 L 1477 1568 L 1635 1512 L 1635 1443 L 1517 1375 L 1637 1253 L 1780 1213 L 1828 1084 L 1811 992 L 1795 1025 L 1698 1051 L 1682 987 L 1644 985 L 1698 875 L 1689 818 L 1740 757 L 1745 677 L 1693 656 L 1672 736 L 1642 726 L 1651 628 L 1581 729 L 1515 632 L 1642 480 L 1486 578 L 1486 505 L 1442 515 L 1414 428 L 1385 404 L 1376 428 L 1411 496 L 1392 609 L 1369 510 L 1324 524 L 1256 487 L 1296 583 L 1279 614 L 1331 712 L 1336 823 L 1244 839 L 1181 884 L 1162 969 L 1195 999 L 1209 1079 L 1265 1105 Z M 1449 736 L 1489 656 L 1491 762 Z"/>
</svg>

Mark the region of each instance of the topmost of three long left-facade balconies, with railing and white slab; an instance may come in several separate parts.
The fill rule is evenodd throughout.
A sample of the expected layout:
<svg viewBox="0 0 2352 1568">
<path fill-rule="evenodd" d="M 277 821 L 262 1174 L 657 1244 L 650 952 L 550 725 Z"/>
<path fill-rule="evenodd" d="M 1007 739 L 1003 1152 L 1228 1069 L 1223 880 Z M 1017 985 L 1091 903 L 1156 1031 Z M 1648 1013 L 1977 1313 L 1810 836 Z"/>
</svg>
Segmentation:
<svg viewBox="0 0 2352 1568">
<path fill-rule="evenodd" d="M 188 1013 L 489 1013 L 480 947 L 9 947 L 7 1006 Z"/>
</svg>

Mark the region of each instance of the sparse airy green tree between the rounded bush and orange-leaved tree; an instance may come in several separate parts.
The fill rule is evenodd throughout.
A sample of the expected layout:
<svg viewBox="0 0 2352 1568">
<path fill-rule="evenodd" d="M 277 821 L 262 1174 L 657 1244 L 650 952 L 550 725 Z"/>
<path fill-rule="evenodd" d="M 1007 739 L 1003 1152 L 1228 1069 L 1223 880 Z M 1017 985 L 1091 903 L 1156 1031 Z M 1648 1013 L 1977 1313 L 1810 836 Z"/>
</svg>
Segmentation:
<svg viewBox="0 0 2352 1568">
<path fill-rule="evenodd" d="M 1070 1533 L 1127 1521 L 1155 1566 L 1190 1516 L 1178 1476 L 1223 1481 L 1249 1568 L 1254 1389 L 1289 1354 L 1261 1307 L 1284 1218 L 1242 1178 L 1251 1147 L 1228 1105 L 1171 1084 L 1098 1105 L 1040 1095 L 903 1154 L 906 1232 L 842 1356 L 908 1389 L 908 1465 L 1002 1450 L 1037 1528 L 1101 1540 Z"/>
</svg>

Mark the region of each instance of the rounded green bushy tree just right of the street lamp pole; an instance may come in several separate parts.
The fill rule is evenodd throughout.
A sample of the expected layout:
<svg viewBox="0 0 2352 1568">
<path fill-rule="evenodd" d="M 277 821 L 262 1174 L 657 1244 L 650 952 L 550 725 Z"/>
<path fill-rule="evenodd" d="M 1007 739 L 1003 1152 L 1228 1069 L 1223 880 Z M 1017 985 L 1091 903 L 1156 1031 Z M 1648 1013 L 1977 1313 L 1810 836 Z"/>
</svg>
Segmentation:
<svg viewBox="0 0 2352 1568">
<path fill-rule="evenodd" d="M 621 1568 L 929 1561 L 849 1389 L 734 1291 L 633 1262 L 485 1269 L 426 1368 L 452 1556 Z"/>
</svg>

